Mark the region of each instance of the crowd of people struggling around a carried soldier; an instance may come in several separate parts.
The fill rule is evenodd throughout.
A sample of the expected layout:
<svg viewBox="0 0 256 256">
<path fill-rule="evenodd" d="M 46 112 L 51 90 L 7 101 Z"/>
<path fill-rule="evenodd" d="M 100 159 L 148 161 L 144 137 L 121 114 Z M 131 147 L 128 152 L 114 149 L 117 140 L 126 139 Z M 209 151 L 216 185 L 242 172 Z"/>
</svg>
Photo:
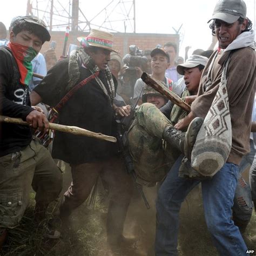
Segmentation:
<svg viewBox="0 0 256 256">
<path fill-rule="evenodd" d="M 112 33 L 97 29 L 79 37 L 80 46 L 57 61 L 54 49 L 40 53 L 44 42 L 51 39 L 41 19 L 14 18 L 9 39 L 0 23 L 0 112 L 29 124 L 0 123 L 0 248 L 8 230 L 19 225 L 31 186 L 36 193 L 38 223 L 60 196 L 56 216 L 62 228 L 58 230 L 52 221 L 45 234 L 58 239 L 99 177 L 109 190 L 106 232 L 113 252 L 125 250 L 130 242 L 123 231 L 134 183 L 158 185 L 156 255 L 178 254 L 180 207 L 199 183 L 207 228 L 218 253 L 245 255 L 256 248 L 256 236 L 246 234 L 256 205 L 252 22 L 242 0 L 218 1 L 208 22 L 213 44 L 191 56 L 186 48 L 185 62 L 172 42 L 144 52 L 132 46 L 122 58 L 114 50 Z M 147 85 L 143 72 L 168 94 L 179 96 L 191 111 Z M 50 109 L 50 116 L 55 115 L 59 124 L 112 137 L 117 137 L 121 123 L 123 142 L 55 131 L 50 150 L 46 149 L 35 131 L 49 133 Z M 215 131 L 221 136 L 225 131 L 232 139 L 224 164 L 211 177 L 205 171 L 215 168 L 211 154 L 199 170 L 193 162 L 199 134 L 208 129 L 210 115 L 215 119 L 207 136 Z M 129 126 L 122 123 L 125 118 L 131 119 Z M 120 152 L 124 148 L 135 179 L 127 172 Z M 216 144 L 211 149 L 200 148 L 204 150 L 219 151 L 225 157 Z M 72 181 L 64 194 L 60 194 L 62 173 L 55 159 L 71 167 Z M 242 178 L 248 168 L 250 184 Z"/>
</svg>

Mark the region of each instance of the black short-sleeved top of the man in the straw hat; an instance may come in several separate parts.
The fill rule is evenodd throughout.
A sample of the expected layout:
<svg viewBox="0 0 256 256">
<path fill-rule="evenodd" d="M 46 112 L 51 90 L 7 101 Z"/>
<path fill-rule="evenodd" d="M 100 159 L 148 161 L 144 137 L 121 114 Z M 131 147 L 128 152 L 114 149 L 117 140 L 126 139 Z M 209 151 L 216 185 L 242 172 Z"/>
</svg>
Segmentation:
<svg viewBox="0 0 256 256">
<path fill-rule="evenodd" d="M 65 95 L 69 80 L 68 64 L 69 59 L 58 62 L 35 88 L 42 97 L 43 103 L 55 106 Z M 88 69 L 80 66 L 78 83 L 90 75 Z M 100 72 L 99 78 L 109 90 L 103 72 Z M 95 79 L 74 93 L 62 107 L 59 124 L 79 126 L 93 132 L 116 136 L 116 124 L 110 100 Z M 53 140 L 52 157 L 70 164 L 100 161 L 115 153 L 116 144 L 95 138 L 56 132 Z"/>
</svg>

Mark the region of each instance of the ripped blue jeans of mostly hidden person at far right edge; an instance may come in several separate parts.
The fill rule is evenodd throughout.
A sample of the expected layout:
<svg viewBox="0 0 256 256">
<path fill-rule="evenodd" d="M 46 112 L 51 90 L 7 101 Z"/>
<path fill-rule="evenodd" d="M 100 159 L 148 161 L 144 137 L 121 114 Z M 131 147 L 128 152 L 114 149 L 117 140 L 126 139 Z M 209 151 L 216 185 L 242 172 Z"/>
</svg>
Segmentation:
<svg viewBox="0 0 256 256">
<path fill-rule="evenodd" d="M 253 140 L 250 139 L 251 151 L 246 154 L 239 165 L 238 183 L 235 190 L 233 217 L 242 221 L 250 221 L 253 211 L 252 195 L 250 185 L 242 178 L 242 173 L 252 165 L 255 149 Z M 256 175 L 256 172 L 251 170 L 251 176 Z M 255 180 L 252 178 L 251 180 Z M 255 182 L 255 181 L 254 181 Z"/>
</svg>

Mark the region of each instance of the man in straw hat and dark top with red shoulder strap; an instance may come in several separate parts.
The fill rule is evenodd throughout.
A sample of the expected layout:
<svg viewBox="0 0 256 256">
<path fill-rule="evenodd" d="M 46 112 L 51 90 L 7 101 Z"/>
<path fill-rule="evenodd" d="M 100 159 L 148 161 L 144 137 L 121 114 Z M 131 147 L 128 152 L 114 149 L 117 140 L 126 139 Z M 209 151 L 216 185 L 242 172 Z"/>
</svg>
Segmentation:
<svg viewBox="0 0 256 256">
<path fill-rule="evenodd" d="M 32 103 L 42 101 L 54 107 L 68 91 L 92 76 L 59 110 L 59 123 L 116 137 L 113 112 L 118 114 L 124 110 L 113 104 L 117 80 L 107 67 L 110 53 L 117 52 L 113 49 L 113 35 L 92 29 L 87 37 L 79 37 L 78 41 L 80 48 L 53 66 L 32 91 Z M 123 227 L 133 186 L 118 154 L 117 144 L 56 132 L 52 157 L 71 165 L 72 183 L 60 205 L 63 226 L 69 226 L 71 213 L 84 203 L 100 176 L 110 191 L 107 241 L 113 250 L 126 244 Z"/>
</svg>

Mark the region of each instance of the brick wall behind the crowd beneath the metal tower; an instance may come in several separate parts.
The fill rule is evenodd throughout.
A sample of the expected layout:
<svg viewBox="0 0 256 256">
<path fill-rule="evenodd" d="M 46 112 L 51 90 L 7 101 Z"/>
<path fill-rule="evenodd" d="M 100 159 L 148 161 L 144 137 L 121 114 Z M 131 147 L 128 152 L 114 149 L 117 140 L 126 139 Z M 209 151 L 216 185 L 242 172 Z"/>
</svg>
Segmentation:
<svg viewBox="0 0 256 256">
<path fill-rule="evenodd" d="M 70 32 L 66 52 L 68 51 L 69 44 L 78 44 L 78 36 L 86 35 L 87 33 L 77 34 Z M 51 32 L 51 40 L 57 42 L 57 57 L 60 57 L 62 55 L 64 38 L 64 31 Z M 138 46 L 140 50 L 152 50 L 156 48 L 158 44 L 163 46 L 166 42 L 173 42 L 179 46 L 179 35 L 156 33 L 114 33 L 113 48 L 118 50 L 120 52 L 120 55 L 123 57 L 126 53 L 129 53 L 129 46 L 132 44 Z M 50 43 L 51 42 L 45 42 L 41 52 L 44 52 L 45 50 L 49 49 Z"/>
</svg>

